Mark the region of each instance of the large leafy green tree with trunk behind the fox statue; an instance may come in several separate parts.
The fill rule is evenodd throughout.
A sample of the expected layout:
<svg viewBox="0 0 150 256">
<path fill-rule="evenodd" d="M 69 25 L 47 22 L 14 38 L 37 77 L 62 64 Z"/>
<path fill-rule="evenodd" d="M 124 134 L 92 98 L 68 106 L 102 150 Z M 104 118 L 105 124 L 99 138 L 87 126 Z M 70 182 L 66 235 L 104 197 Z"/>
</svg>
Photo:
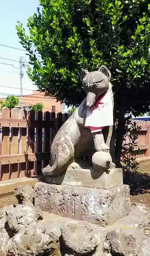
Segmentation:
<svg viewBox="0 0 150 256">
<path fill-rule="evenodd" d="M 85 94 L 81 69 L 102 64 L 112 73 L 120 158 L 124 115 L 145 113 L 150 105 L 149 0 L 40 0 L 40 7 L 16 26 L 29 52 L 28 74 L 39 90 L 67 105 Z"/>
</svg>

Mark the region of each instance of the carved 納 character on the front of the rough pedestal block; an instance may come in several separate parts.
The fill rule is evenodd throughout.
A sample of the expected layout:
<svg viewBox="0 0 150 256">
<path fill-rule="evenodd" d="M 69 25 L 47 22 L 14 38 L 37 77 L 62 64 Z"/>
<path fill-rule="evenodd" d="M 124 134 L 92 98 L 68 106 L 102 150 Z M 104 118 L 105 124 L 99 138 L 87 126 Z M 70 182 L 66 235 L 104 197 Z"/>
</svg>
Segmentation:
<svg viewBox="0 0 150 256">
<path fill-rule="evenodd" d="M 59 214 L 72 214 L 75 215 L 75 199 L 74 198 L 65 198 L 59 200 L 58 212 Z"/>
</svg>

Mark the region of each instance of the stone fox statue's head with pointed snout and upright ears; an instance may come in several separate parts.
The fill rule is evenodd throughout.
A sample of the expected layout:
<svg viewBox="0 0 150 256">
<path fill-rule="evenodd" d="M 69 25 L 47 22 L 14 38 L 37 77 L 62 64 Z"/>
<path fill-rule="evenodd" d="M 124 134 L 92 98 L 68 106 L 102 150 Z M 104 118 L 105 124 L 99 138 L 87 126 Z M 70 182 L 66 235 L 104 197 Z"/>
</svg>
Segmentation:
<svg viewBox="0 0 150 256">
<path fill-rule="evenodd" d="M 111 72 L 105 66 L 101 66 L 98 71 L 88 72 L 82 70 L 81 80 L 83 90 L 87 94 L 87 106 L 91 108 L 95 100 L 109 90 Z"/>
</svg>

